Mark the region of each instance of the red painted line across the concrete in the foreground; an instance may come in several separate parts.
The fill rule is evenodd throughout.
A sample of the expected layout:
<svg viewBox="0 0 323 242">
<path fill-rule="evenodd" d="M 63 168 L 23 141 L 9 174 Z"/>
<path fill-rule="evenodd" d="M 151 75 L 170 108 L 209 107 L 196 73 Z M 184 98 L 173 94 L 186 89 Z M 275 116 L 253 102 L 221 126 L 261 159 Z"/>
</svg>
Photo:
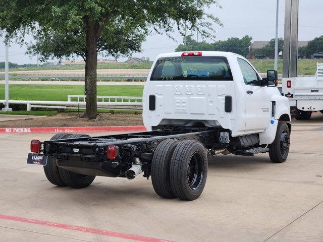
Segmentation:
<svg viewBox="0 0 323 242">
<path fill-rule="evenodd" d="M 70 230 L 76 230 L 76 231 L 82 231 L 82 232 L 94 233 L 94 234 L 101 234 L 101 235 L 117 237 L 117 238 L 125 238 L 125 239 L 131 239 L 131 240 L 136 240 L 136 241 L 143 241 L 143 242 L 174 242 L 171 240 L 165 240 L 165 239 L 159 239 L 159 238 L 145 237 L 145 236 L 127 234 L 127 233 L 119 233 L 119 232 L 114 232 L 114 231 L 109 231 L 109 230 L 81 227 L 81 226 L 75 226 L 75 225 L 70 225 L 70 224 L 54 223 L 54 222 L 37 220 L 37 219 L 15 217 L 15 216 L 9 216 L 9 215 L 5 215 L 5 214 L 0 214 L 0 219 L 6 219 L 6 220 L 12 220 L 12 221 L 18 221 L 18 222 L 24 222 L 24 223 L 39 224 L 39 225 L 45 225 L 45 226 L 50 226 L 50 227 L 70 229 Z"/>
</svg>

